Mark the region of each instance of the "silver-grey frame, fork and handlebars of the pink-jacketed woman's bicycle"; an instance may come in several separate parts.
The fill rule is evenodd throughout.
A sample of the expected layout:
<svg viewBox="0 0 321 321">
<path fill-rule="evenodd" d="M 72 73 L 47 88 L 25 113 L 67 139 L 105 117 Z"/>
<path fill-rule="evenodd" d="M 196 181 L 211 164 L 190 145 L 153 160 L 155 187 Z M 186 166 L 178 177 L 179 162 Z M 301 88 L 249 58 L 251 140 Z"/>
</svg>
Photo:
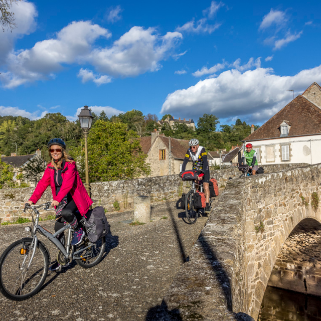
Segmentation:
<svg viewBox="0 0 321 321">
<path fill-rule="evenodd" d="M 45 203 L 46 204 L 46 203 Z M 92 243 L 89 243 L 88 246 L 86 247 L 82 247 L 80 250 L 73 252 L 72 255 L 69 254 L 70 251 L 70 243 L 71 243 L 71 232 L 72 232 L 72 228 L 70 224 L 66 224 L 66 226 L 64 226 L 63 228 L 61 228 L 60 230 L 58 230 L 56 233 L 52 234 L 49 231 L 47 231 L 46 229 L 44 229 L 42 226 L 39 225 L 39 216 L 40 213 L 37 210 L 37 208 L 42 207 L 43 205 L 39 205 L 37 207 L 31 207 L 31 210 L 33 210 L 36 213 L 36 219 L 35 219 L 35 224 L 34 224 L 34 229 L 33 229 L 33 241 L 31 243 L 31 246 L 33 246 L 34 244 L 36 244 L 36 246 L 34 246 L 34 250 L 33 250 L 33 254 L 31 256 L 30 259 L 30 263 L 29 266 L 34 258 L 35 252 L 36 252 L 36 248 L 37 248 L 37 244 L 38 244 L 38 237 L 36 235 L 37 231 L 39 231 L 43 236 L 45 236 L 47 239 L 49 239 L 52 243 L 55 244 L 55 246 L 61 251 L 61 253 L 64 255 L 64 257 L 66 259 L 82 259 L 82 257 L 76 257 L 76 255 L 78 253 L 83 252 L 85 249 L 89 248 L 92 246 Z M 67 242 L 66 242 L 66 247 L 58 240 L 57 236 L 64 232 L 65 230 L 68 229 L 68 237 L 67 237 Z M 29 267 L 28 266 L 28 267 Z"/>
</svg>

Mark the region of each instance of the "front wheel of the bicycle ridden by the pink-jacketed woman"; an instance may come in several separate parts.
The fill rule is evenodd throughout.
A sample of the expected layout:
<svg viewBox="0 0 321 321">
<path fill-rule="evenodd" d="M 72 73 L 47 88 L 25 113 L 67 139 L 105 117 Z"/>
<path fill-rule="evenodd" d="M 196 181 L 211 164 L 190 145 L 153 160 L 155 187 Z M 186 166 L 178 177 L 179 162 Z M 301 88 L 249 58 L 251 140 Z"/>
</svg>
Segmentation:
<svg viewBox="0 0 321 321">
<path fill-rule="evenodd" d="M 11 300 L 22 301 L 35 295 L 45 282 L 49 255 L 38 242 L 35 256 L 32 238 L 11 244 L 0 258 L 0 291 Z"/>
</svg>

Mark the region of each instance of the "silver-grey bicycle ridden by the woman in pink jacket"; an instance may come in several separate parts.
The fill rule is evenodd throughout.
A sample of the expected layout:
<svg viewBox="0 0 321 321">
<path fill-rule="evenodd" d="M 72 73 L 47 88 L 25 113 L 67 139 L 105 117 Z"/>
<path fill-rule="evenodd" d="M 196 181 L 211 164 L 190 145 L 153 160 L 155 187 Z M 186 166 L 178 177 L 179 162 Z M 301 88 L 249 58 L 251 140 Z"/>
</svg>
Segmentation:
<svg viewBox="0 0 321 321">
<path fill-rule="evenodd" d="M 39 225 L 40 213 L 37 209 L 41 207 L 48 211 L 50 202 L 25 207 L 24 212 L 26 209 L 30 210 L 32 217 L 32 225 L 31 227 L 26 226 L 25 231 L 31 232 L 32 237 L 24 237 L 12 243 L 0 257 L 0 291 L 11 300 L 23 301 L 34 296 L 40 291 L 47 277 L 51 262 L 50 253 L 46 245 L 38 240 L 37 232 L 40 232 L 59 249 L 57 261 L 61 264 L 60 270 L 62 266 L 68 266 L 72 260 L 75 260 L 82 268 L 91 268 L 100 262 L 105 251 L 104 237 L 96 243 L 91 243 L 87 234 L 80 244 L 71 246 L 73 229 L 70 224 L 66 224 L 59 231 L 51 234 Z M 86 233 L 85 227 L 83 228 Z M 68 230 L 66 247 L 57 238 L 65 230 Z"/>
</svg>

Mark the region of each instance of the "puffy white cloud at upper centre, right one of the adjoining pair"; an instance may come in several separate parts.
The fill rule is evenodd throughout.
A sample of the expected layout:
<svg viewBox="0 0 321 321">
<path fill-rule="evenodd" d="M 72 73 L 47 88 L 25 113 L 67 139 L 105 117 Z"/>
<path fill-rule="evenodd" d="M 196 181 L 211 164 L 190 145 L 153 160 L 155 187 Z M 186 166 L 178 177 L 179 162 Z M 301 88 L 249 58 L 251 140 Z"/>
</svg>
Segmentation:
<svg viewBox="0 0 321 321">
<path fill-rule="evenodd" d="M 96 70 L 111 76 L 131 77 L 161 68 L 159 61 L 183 38 L 179 32 L 159 36 L 155 28 L 132 27 L 110 48 L 95 49 L 88 61 Z"/>
</svg>

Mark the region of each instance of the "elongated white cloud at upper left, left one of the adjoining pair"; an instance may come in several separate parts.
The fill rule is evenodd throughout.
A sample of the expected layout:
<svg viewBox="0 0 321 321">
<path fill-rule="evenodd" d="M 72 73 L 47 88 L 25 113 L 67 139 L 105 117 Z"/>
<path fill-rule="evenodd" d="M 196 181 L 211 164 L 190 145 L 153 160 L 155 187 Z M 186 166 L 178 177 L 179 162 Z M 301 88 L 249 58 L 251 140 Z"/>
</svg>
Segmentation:
<svg viewBox="0 0 321 321">
<path fill-rule="evenodd" d="M 62 69 L 62 64 L 81 62 L 97 38 L 110 36 L 108 30 L 91 22 L 72 22 L 57 33 L 56 39 L 39 41 L 30 50 L 10 53 L 8 71 L 4 73 L 2 82 L 6 88 L 14 88 L 47 79 Z"/>
</svg>

